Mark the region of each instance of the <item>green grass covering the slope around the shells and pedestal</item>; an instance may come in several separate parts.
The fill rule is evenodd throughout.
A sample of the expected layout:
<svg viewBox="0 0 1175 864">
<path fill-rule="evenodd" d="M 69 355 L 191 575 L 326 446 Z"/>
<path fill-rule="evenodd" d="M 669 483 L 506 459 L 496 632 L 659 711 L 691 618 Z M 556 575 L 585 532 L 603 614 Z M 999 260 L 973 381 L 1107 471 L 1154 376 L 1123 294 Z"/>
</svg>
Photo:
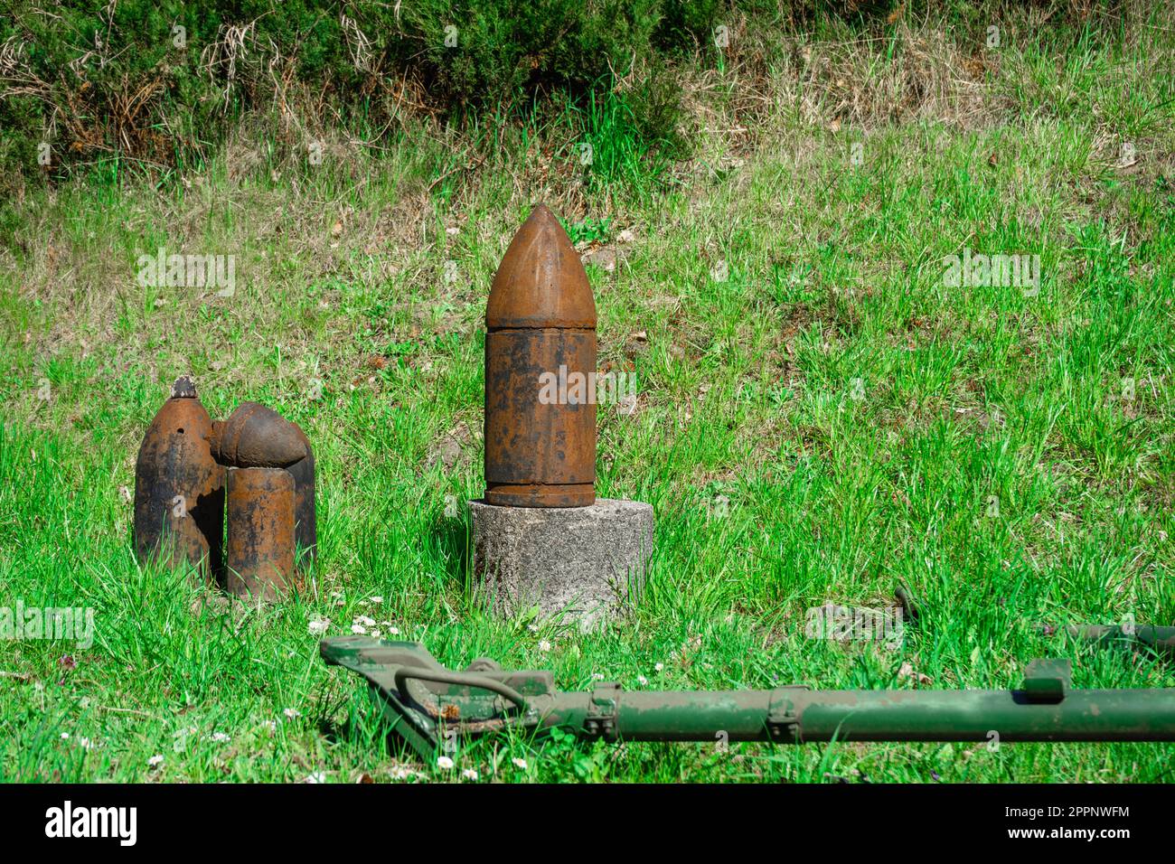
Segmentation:
<svg viewBox="0 0 1175 864">
<path fill-rule="evenodd" d="M 498 161 L 470 170 L 462 145 L 422 130 L 318 167 L 242 146 L 183 182 L 12 203 L 0 604 L 88 605 L 96 629 L 88 650 L 5 647 L 0 778 L 459 779 L 389 754 L 358 679 L 317 658 L 309 622 L 340 634 L 358 615 L 448 665 L 492 656 L 564 689 L 1007 688 L 1038 656 L 1073 658 L 1079 686 L 1175 685 L 1169 663 L 1039 627 L 1175 622 L 1170 56 L 1162 32 L 1012 47 L 985 95 L 1005 107 L 980 126 L 833 132 L 780 73 L 753 149 L 705 133 L 656 195 L 584 189 L 559 133 L 613 134 L 592 114 L 502 130 Z M 1122 140 L 1133 169 L 1113 167 Z M 482 491 L 481 320 L 540 197 L 617 250 L 615 270 L 589 267 L 599 354 L 634 367 L 640 396 L 632 416 L 599 413 L 597 488 L 657 515 L 645 595 L 595 636 L 495 619 L 469 581 L 468 518 L 445 517 L 446 496 Z M 157 246 L 237 255 L 236 295 L 139 288 L 135 259 Z M 1040 254 L 1039 295 L 944 287 L 964 248 Z M 320 561 L 288 603 L 226 608 L 134 560 L 120 487 L 187 371 L 213 416 L 263 401 L 314 442 Z M 465 443 L 446 464 L 432 455 L 450 433 Z M 878 608 L 899 582 L 925 621 L 895 650 L 805 637 L 808 609 Z M 498 737 L 457 763 L 482 781 L 1166 782 L 1173 759 L 1157 744 Z"/>
</svg>

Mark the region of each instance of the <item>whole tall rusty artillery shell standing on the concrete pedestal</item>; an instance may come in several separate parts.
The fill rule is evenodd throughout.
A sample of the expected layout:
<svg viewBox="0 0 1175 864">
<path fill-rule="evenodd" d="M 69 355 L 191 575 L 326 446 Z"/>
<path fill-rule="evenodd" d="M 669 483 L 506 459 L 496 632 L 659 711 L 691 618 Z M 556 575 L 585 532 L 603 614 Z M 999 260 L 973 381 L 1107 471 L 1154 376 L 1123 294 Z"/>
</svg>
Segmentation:
<svg viewBox="0 0 1175 864">
<path fill-rule="evenodd" d="M 485 502 L 596 502 L 596 303 L 579 255 L 539 205 L 494 276 L 485 310 Z"/>
</svg>

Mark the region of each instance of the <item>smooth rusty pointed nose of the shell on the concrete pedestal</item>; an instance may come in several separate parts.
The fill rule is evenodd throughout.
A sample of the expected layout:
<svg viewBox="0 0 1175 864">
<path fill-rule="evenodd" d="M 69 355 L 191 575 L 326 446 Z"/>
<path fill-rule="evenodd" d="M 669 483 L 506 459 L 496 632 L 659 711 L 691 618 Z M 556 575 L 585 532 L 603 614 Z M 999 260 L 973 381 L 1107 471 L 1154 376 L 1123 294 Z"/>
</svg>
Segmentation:
<svg viewBox="0 0 1175 864">
<path fill-rule="evenodd" d="M 544 205 L 535 207 L 502 259 L 485 326 L 490 330 L 596 328 L 596 302 L 579 254 Z"/>
</svg>

